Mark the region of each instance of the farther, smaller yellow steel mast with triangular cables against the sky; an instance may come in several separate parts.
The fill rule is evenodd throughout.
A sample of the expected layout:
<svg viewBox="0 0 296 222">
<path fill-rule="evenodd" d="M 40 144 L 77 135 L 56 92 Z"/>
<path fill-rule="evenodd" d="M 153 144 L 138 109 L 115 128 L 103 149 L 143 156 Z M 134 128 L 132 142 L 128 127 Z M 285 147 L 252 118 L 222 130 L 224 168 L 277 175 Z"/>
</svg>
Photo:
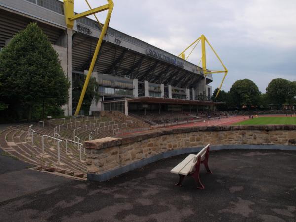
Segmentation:
<svg viewBox="0 0 296 222">
<path fill-rule="evenodd" d="M 188 59 L 188 57 L 191 55 L 191 53 L 193 52 L 193 50 L 196 48 L 197 44 L 201 41 L 201 61 L 202 61 L 202 72 L 205 76 L 205 81 L 206 81 L 206 77 L 207 74 L 215 74 L 215 73 L 225 73 L 224 77 L 222 79 L 222 82 L 219 86 L 218 92 L 215 96 L 215 98 L 217 98 L 221 87 L 223 85 L 223 82 L 225 80 L 225 77 L 227 76 L 228 70 L 225 67 L 225 65 L 223 64 L 222 60 L 220 59 L 220 57 L 218 56 L 218 54 L 216 53 L 216 51 L 214 50 L 214 48 L 212 47 L 212 45 L 210 44 L 210 42 L 208 41 L 208 39 L 204 36 L 201 35 L 199 38 L 197 38 L 193 43 L 191 43 L 187 48 L 185 48 L 185 50 L 183 52 L 181 52 L 178 57 L 181 57 L 182 59 L 185 59 L 185 51 L 187 51 L 189 48 L 191 48 L 192 45 L 194 45 L 196 43 L 196 45 L 194 46 L 194 48 L 191 50 L 191 52 L 189 53 L 189 55 L 186 57 L 186 60 Z M 212 49 L 212 51 L 214 52 L 214 54 L 216 55 L 216 57 L 218 58 L 219 62 L 222 64 L 224 70 L 207 70 L 207 64 L 206 64 L 206 43 L 208 43 L 208 45 L 210 46 L 210 48 Z M 206 84 L 206 83 L 205 83 Z"/>
</svg>

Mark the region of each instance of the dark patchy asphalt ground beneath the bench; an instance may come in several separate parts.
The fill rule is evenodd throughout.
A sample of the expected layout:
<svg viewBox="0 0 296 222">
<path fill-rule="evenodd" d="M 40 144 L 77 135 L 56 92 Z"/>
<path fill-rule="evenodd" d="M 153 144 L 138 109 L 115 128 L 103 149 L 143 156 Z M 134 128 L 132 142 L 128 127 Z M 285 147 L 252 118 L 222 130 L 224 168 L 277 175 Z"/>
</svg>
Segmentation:
<svg viewBox="0 0 296 222">
<path fill-rule="evenodd" d="M 6 200 L 0 193 L 0 221 L 296 221 L 296 152 L 211 151 L 202 167 L 204 190 L 192 178 L 174 186 L 170 170 L 187 154 L 163 159 L 106 182 L 76 181 L 29 169 L 9 183 L 32 190 Z M 8 158 L 8 157 L 7 157 Z M 10 158 L 10 157 L 9 157 Z M 32 184 L 34 183 L 34 185 Z M 16 186 L 6 189 L 15 193 Z M 22 189 L 19 189 L 22 190 Z"/>
</svg>

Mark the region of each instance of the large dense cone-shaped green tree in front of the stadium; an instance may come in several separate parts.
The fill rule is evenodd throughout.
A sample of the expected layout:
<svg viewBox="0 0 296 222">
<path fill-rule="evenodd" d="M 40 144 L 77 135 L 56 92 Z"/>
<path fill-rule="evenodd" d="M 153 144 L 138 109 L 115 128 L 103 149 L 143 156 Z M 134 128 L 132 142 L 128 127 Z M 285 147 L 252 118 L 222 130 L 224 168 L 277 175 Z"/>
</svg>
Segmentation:
<svg viewBox="0 0 296 222">
<path fill-rule="evenodd" d="M 34 106 L 62 106 L 68 100 L 70 82 L 58 53 L 36 23 L 30 23 L 3 48 L 0 74 L 0 98 L 12 109 L 23 107 L 28 120 Z"/>
</svg>

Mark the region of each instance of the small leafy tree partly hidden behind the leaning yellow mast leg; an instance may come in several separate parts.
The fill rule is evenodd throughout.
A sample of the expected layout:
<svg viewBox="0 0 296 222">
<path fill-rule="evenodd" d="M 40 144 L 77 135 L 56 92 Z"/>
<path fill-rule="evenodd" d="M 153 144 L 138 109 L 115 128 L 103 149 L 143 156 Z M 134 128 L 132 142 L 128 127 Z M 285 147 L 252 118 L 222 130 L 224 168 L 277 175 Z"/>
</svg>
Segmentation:
<svg viewBox="0 0 296 222">
<path fill-rule="evenodd" d="M 78 104 L 84 81 L 85 81 L 85 75 L 83 75 L 81 79 L 77 78 L 74 80 L 72 99 L 74 101 L 74 104 L 76 105 Z M 96 81 L 94 77 L 91 77 L 89 79 L 89 83 L 83 98 L 83 104 L 82 104 L 81 110 L 84 111 L 84 115 L 88 115 L 89 108 L 93 100 L 95 100 L 95 102 L 98 103 L 99 96 L 100 96 L 100 94 L 98 93 L 98 90 L 99 90 L 99 83 Z"/>
</svg>

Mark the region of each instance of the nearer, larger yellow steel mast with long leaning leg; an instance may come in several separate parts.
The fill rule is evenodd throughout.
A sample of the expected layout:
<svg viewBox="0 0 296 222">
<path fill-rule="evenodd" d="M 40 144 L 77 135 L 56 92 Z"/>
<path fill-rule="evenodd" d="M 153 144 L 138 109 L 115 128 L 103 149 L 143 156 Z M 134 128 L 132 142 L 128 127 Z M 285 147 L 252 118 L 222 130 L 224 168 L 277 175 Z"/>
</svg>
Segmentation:
<svg viewBox="0 0 296 222">
<path fill-rule="evenodd" d="M 75 116 L 77 116 L 79 114 L 79 111 L 81 109 L 83 98 L 84 98 L 84 95 L 85 95 L 85 92 L 86 92 L 86 89 L 87 89 L 87 86 L 88 86 L 88 83 L 89 83 L 89 79 L 90 79 L 91 74 L 93 72 L 93 69 L 94 69 L 94 66 L 95 66 L 95 63 L 96 63 L 96 60 L 97 60 L 97 57 L 98 57 L 98 53 L 99 53 L 101 45 L 102 45 L 103 38 L 104 38 L 104 36 L 105 36 L 105 34 L 107 32 L 107 28 L 108 28 L 108 25 L 109 25 L 109 22 L 110 22 L 110 18 L 111 18 L 111 14 L 112 14 L 112 11 L 113 11 L 114 3 L 113 3 L 112 0 L 107 0 L 107 2 L 108 2 L 108 4 L 105 4 L 103 6 L 100 6 L 100 7 L 94 8 L 94 9 L 91 9 L 90 5 L 87 2 L 88 6 L 90 7 L 90 10 L 74 15 L 74 0 L 64 0 L 64 11 L 65 11 L 66 25 L 67 25 L 67 27 L 69 29 L 73 28 L 74 20 L 76 20 L 76 19 L 83 18 L 83 17 L 93 15 L 93 14 L 101 12 L 101 11 L 108 10 L 108 13 L 107 13 L 107 16 L 106 16 L 106 19 L 105 19 L 105 23 L 103 25 L 103 28 L 102 28 L 102 31 L 101 31 L 101 34 L 100 34 L 100 37 L 99 37 L 99 40 L 98 40 L 94 55 L 93 55 L 93 58 L 91 60 L 91 64 L 90 64 L 88 73 L 86 75 L 86 79 L 85 79 L 85 82 L 84 82 L 84 85 L 83 85 L 83 88 L 82 88 L 82 92 L 81 92 L 81 95 L 80 95 L 80 98 L 79 98 L 78 106 L 77 106 L 76 111 L 75 111 Z M 99 23 L 99 25 L 101 26 L 100 23 Z"/>
</svg>

